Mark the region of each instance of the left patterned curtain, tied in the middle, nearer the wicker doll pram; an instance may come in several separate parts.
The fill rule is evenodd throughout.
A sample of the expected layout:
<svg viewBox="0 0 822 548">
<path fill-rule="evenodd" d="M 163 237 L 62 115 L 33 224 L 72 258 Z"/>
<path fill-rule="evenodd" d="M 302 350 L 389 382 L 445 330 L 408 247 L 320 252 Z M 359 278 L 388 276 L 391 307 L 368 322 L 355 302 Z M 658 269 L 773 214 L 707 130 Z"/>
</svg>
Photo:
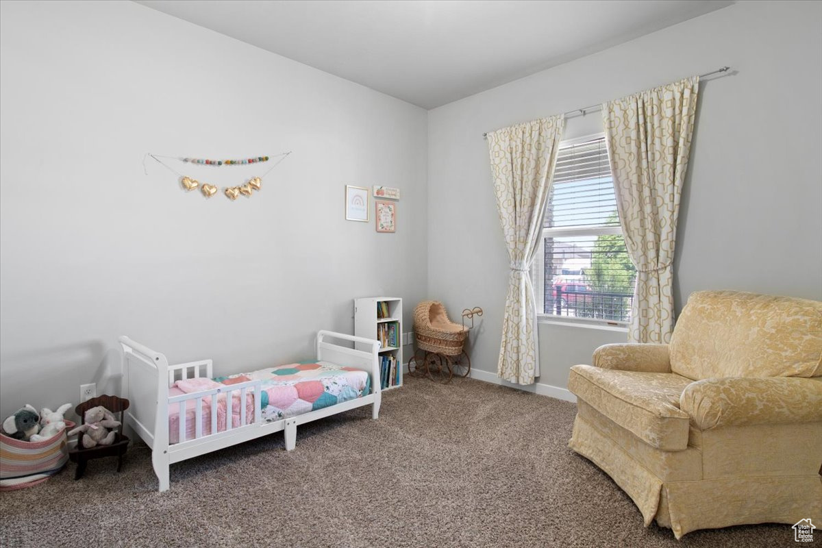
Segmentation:
<svg viewBox="0 0 822 548">
<path fill-rule="evenodd" d="M 529 269 L 542 240 L 564 127 L 565 118 L 555 116 L 488 134 L 496 207 L 510 259 L 496 374 L 520 385 L 530 385 L 539 376 L 537 310 Z"/>
</svg>

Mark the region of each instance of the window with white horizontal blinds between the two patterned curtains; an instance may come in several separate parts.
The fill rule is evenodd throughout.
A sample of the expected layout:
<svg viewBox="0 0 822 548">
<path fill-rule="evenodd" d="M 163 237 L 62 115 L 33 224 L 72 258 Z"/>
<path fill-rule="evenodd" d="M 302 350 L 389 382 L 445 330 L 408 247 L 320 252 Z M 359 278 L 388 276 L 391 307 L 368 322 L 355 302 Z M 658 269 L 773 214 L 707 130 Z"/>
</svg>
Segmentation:
<svg viewBox="0 0 822 548">
<path fill-rule="evenodd" d="M 563 143 L 543 227 L 532 271 L 543 314 L 630 320 L 636 270 L 622 239 L 604 136 Z"/>
</svg>

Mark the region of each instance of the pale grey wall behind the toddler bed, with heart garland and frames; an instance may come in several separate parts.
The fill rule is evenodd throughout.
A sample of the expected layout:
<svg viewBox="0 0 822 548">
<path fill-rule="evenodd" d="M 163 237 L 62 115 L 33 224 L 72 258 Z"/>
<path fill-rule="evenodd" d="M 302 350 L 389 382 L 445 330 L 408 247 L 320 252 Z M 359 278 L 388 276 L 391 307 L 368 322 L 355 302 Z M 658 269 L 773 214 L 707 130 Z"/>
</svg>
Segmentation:
<svg viewBox="0 0 822 548">
<path fill-rule="evenodd" d="M 217 373 L 312 356 L 353 297 L 426 297 L 427 114 L 132 2 L 2 2 L 0 405 L 118 389 L 127 334 Z M 146 152 L 293 154 L 252 199 Z M 173 168 L 225 186 L 260 168 Z M 344 185 L 399 187 L 398 228 Z M 246 371 L 248 371 L 246 369 Z"/>
</svg>

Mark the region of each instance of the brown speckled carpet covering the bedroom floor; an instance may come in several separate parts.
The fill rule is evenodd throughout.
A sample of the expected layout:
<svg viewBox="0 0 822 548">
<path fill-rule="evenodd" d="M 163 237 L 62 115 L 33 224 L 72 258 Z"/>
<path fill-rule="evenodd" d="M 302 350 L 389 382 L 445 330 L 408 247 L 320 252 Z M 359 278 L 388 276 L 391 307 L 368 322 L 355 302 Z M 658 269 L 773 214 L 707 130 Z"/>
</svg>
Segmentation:
<svg viewBox="0 0 822 548">
<path fill-rule="evenodd" d="M 150 452 L 74 465 L 0 493 L 2 546 L 794 546 L 787 525 L 653 525 L 567 447 L 575 405 L 459 380 L 406 379 L 381 417 L 355 409 L 178 463 L 157 492 Z M 817 541 L 816 543 L 818 543 Z"/>
</svg>

